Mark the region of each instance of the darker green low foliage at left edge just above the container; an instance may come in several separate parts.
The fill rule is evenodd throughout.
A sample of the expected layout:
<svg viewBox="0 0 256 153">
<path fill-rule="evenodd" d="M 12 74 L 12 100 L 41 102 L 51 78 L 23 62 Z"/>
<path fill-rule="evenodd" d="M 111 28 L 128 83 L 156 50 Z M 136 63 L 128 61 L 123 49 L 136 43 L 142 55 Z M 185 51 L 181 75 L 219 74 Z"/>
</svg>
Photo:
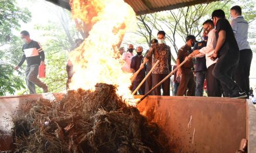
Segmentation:
<svg viewBox="0 0 256 153">
<path fill-rule="evenodd" d="M 14 71 L 12 65 L 0 63 L 0 96 L 15 94 L 16 90 L 25 88 L 24 81 L 18 75 L 13 75 Z"/>
</svg>

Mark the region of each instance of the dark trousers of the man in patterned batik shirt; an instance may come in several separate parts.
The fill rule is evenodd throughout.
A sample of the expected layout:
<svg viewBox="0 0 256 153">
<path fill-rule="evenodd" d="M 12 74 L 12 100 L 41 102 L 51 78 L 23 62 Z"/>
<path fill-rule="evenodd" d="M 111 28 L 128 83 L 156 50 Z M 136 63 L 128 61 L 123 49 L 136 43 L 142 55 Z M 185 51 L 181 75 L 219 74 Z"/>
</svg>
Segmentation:
<svg viewBox="0 0 256 153">
<path fill-rule="evenodd" d="M 162 79 L 165 78 L 167 75 L 168 74 L 152 74 L 152 87 L 157 85 L 157 83 L 162 81 Z M 162 96 L 170 96 L 170 78 L 166 79 L 166 81 L 163 82 L 162 85 L 158 86 L 154 91 L 152 91 L 152 94 L 155 96 L 161 96 L 161 86 L 163 89 Z"/>
</svg>

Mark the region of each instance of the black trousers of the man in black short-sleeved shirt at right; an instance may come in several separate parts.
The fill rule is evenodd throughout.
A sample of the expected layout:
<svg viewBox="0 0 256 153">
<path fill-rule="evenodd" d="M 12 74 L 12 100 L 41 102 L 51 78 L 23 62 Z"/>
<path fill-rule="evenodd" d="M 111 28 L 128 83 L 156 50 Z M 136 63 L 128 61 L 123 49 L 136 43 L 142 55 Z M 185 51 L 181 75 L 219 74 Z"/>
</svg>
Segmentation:
<svg viewBox="0 0 256 153">
<path fill-rule="evenodd" d="M 212 75 L 221 82 L 223 95 L 229 97 L 230 94 L 239 92 L 239 86 L 232 79 L 232 74 L 236 70 L 238 57 L 232 54 L 223 54 L 215 64 Z"/>
</svg>

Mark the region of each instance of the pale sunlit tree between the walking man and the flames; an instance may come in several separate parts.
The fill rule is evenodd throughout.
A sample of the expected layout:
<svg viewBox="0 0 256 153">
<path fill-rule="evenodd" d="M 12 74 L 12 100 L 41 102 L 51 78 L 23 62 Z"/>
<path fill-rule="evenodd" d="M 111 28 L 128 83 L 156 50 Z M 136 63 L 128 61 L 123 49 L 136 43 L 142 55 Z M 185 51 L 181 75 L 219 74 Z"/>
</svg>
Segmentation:
<svg viewBox="0 0 256 153">
<path fill-rule="evenodd" d="M 47 41 L 41 43 L 45 52 L 47 63 L 46 78 L 42 79 L 47 83 L 49 92 L 64 92 L 66 90 L 66 62 L 70 48 L 74 46 L 74 39 L 83 38 L 81 31 L 77 31 L 74 21 L 70 17 L 70 12 L 58 6 L 48 5 L 45 7 L 52 11 L 58 21 L 51 21 L 47 25 L 35 25 L 34 29 L 41 31 L 42 38 Z M 51 39 L 49 39 L 51 38 Z M 38 93 L 41 89 L 36 89 Z"/>
</svg>

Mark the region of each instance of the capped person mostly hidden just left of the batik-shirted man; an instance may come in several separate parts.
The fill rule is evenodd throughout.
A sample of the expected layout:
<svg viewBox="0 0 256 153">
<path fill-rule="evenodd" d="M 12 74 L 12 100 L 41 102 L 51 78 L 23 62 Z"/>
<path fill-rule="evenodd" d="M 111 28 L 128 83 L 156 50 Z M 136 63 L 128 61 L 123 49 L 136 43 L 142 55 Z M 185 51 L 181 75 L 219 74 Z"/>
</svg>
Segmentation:
<svg viewBox="0 0 256 153">
<path fill-rule="evenodd" d="M 157 39 L 152 39 L 151 46 L 154 45 L 155 43 L 158 43 Z M 150 50 L 147 50 L 145 54 L 147 54 L 149 51 Z M 148 59 L 148 62 L 146 63 L 146 74 L 150 72 L 151 68 L 152 68 L 152 57 L 150 57 L 150 59 Z M 148 93 L 151 89 L 152 89 L 152 75 L 149 75 L 145 84 L 145 93 Z M 150 93 L 150 95 L 152 95 L 152 93 Z"/>
</svg>

